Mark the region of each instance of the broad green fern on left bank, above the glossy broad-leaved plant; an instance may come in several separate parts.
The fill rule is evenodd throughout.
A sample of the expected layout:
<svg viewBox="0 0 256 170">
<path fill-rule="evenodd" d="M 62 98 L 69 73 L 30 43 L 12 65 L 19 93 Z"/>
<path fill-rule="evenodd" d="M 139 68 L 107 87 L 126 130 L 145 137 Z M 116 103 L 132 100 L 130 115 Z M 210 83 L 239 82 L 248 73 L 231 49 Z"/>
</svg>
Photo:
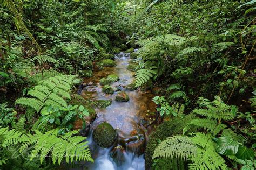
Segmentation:
<svg viewBox="0 0 256 170">
<path fill-rule="evenodd" d="M 50 77 L 49 79 L 38 82 L 32 90 L 28 92 L 28 95 L 33 98 L 22 97 L 16 100 L 16 104 L 21 104 L 35 109 L 37 112 L 41 111 L 48 105 L 53 107 L 67 107 L 67 103 L 64 99 L 70 99 L 70 89 L 73 84 L 75 75 L 57 75 Z"/>
</svg>

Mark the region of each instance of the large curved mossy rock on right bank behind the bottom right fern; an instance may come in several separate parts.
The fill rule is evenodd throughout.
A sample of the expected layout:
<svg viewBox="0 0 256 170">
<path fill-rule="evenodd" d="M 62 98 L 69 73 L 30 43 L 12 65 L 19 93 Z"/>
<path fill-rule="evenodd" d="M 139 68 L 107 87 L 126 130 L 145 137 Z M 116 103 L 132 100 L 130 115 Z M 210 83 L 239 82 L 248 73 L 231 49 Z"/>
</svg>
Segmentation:
<svg viewBox="0 0 256 170">
<path fill-rule="evenodd" d="M 187 115 L 184 118 L 174 117 L 170 121 L 166 121 L 157 126 L 156 131 L 150 134 L 149 142 L 146 146 L 145 169 L 151 169 L 154 150 L 156 150 L 156 147 L 161 143 L 161 141 L 173 135 L 182 134 L 183 128 L 186 126 L 184 122 L 189 122 L 189 120 L 193 118 L 196 118 L 193 114 Z M 192 131 L 193 130 L 190 130 L 190 132 Z"/>
</svg>

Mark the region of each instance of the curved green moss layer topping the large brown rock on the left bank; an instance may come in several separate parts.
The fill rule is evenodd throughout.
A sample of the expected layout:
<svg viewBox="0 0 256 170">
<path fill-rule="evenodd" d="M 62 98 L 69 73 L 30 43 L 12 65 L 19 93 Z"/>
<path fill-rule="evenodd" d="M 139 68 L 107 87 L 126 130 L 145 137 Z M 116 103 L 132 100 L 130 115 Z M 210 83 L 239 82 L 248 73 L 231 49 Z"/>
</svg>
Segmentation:
<svg viewBox="0 0 256 170">
<path fill-rule="evenodd" d="M 82 96 L 78 94 L 72 94 L 71 95 L 71 101 L 69 104 L 72 105 L 83 105 L 89 112 L 91 119 L 95 119 L 97 117 L 95 109 L 92 107 L 92 105 L 86 101 Z"/>
</svg>

